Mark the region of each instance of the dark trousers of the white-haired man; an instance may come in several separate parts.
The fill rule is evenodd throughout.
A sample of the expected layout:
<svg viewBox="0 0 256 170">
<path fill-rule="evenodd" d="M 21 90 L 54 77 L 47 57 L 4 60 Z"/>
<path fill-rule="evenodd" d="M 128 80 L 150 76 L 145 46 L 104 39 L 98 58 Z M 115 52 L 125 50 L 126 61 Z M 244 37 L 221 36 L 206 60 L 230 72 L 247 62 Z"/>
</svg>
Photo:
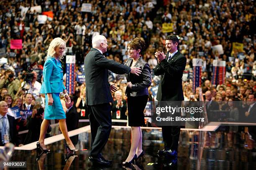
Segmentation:
<svg viewBox="0 0 256 170">
<path fill-rule="evenodd" d="M 100 157 L 101 151 L 108 142 L 112 121 L 109 103 L 88 106 L 92 134 L 90 156 Z"/>
</svg>

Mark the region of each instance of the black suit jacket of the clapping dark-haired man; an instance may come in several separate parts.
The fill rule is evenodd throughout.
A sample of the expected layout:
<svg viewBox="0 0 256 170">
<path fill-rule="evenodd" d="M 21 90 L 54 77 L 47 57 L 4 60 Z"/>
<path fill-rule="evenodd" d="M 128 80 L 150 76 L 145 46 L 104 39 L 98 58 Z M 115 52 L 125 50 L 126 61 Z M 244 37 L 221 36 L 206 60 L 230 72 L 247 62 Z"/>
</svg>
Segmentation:
<svg viewBox="0 0 256 170">
<path fill-rule="evenodd" d="M 168 58 L 169 53 L 166 54 Z M 187 59 L 179 51 L 172 56 L 169 62 L 164 59 L 154 69 L 155 75 L 161 75 L 156 99 L 158 101 L 182 101 L 182 75 Z"/>
</svg>

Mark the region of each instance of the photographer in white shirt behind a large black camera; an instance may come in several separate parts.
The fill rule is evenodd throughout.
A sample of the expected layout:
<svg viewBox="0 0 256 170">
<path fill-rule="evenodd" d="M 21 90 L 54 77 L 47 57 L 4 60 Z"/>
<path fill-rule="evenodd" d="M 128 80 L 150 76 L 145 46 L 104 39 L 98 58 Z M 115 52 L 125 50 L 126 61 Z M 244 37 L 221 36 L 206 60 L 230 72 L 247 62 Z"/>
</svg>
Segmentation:
<svg viewBox="0 0 256 170">
<path fill-rule="evenodd" d="M 21 83 L 21 87 L 26 93 L 31 93 L 35 99 L 39 98 L 39 92 L 41 89 L 41 83 L 36 81 L 37 72 L 32 71 L 31 73 L 26 73 L 25 81 Z"/>
</svg>

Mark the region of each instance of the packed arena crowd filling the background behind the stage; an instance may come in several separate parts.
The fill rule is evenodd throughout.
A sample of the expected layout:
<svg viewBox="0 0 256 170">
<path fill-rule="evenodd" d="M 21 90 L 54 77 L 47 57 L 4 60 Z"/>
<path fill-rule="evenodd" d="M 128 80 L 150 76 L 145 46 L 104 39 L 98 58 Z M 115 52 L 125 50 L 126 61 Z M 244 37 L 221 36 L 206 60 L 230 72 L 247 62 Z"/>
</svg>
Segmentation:
<svg viewBox="0 0 256 170">
<path fill-rule="evenodd" d="M 166 51 L 165 39 L 170 32 L 162 32 L 162 24 L 173 23 L 172 34 L 179 37 L 178 50 L 187 58 L 183 74 L 186 78 L 182 82 L 184 100 L 200 100 L 199 90 L 193 91 L 192 76 L 189 76 L 193 58 L 201 58 L 203 61 L 201 89 L 205 96 L 210 95 L 209 99 L 255 100 L 256 39 L 252 0 L 92 0 L 88 1 L 92 5 L 90 13 L 82 12 L 82 3 L 86 2 L 0 2 L 0 99 L 8 105 L 8 112 L 15 106 L 20 110 L 32 110 L 32 115 L 15 120 L 15 132 L 31 127 L 31 117 L 43 120 L 44 115 L 38 110 L 45 106 L 45 95 L 40 93 L 42 70 L 46 61 L 46 49 L 55 37 L 61 37 L 66 42 L 69 49 L 66 50 L 66 55 L 76 56 L 76 75 L 84 73 L 81 65 L 92 47 L 92 38 L 96 35 L 107 38 L 108 50 L 105 56 L 120 63 L 125 63 L 128 59 L 128 43 L 135 37 L 143 37 L 146 48 L 141 56 L 151 68 L 149 100 L 156 100 L 151 89 L 159 84 L 160 77 L 154 74 L 154 68 L 158 64 L 154 53 Z M 41 13 L 30 10 L 37 5 L 41 5 L 42 11 L 52 11 L 53 18 L 39 23 L 37 18 Z M 22 40 L 22 49 L 11 49 L 10 42 L 15 39 Z M 243 50 L 233 49 L 233 42 L 242 43 Z M 213 52 L 214 45 L 222 45 L 223 54 Z M 226 61 L 226 81 L 223 85 L 212 85 L 213 60 Z M 62 62 L 62 67 L 65 72 L 64 63 L 65 61 Z M 112 94 L 115 100 L 112 118 L 126 120 L 127 80 L 124 75 L 109 73 L 109 80 L 118 86 L 118 91 Z M 74 107 L 77 107 L 79 118 L 88 118 L 85 83 L 76 80 L 74 84 Z M 0 104 L 5 107 L 5 102 Z M 64 111 L 68 110 L 65 105 L 63 107 Z M 33 141 L 36 140 L 38 139 Z M 20 140 L 17 141 L 19 145 Z"/>
</svg>

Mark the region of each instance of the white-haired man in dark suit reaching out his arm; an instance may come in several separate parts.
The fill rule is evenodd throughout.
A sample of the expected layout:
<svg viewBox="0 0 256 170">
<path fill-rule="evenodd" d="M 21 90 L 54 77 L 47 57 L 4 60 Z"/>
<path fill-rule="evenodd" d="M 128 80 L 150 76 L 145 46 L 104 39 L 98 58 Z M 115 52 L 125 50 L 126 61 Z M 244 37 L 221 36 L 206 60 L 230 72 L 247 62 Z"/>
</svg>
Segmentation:
<svg viewBox="0 0 256 170">
<path fill-rule="evenodd" d="M 92 163 L 111 165 L 111 161 L 102 157 L 101 151 L 108 141 L 111 131 L 111 105 L 113 97 L 110 91 L 117 88 L 108 82 L 108 70 L 116 74 L 140 74 L 140 68 L 128 67 L 114 60 L 108 60 L 103 53 L 107 51 L 108 42 L 103 35 L 92 39 L 90 52 L 84 58 L 86 83 L 86 103 L 92 134 L 92 148 L 89 160 Z"/>
</svg>

